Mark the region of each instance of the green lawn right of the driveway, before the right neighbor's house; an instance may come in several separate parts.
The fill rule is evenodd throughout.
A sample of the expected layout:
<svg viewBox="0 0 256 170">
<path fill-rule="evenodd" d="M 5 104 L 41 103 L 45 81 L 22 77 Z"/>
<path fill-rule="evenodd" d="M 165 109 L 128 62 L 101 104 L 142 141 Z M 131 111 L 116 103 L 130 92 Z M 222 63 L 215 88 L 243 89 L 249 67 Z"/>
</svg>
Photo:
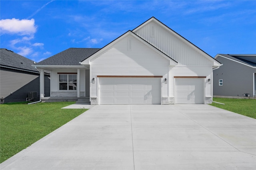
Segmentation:
<svg viewBox="0 0 256 170">
<path fill-rule="evenodd" d="M 217 103 L 210 105 L 256 119 L 256 100 L 254 99 L 213 98 L 213 101 L 224 103 L 225 105 Z"/>
</svg>

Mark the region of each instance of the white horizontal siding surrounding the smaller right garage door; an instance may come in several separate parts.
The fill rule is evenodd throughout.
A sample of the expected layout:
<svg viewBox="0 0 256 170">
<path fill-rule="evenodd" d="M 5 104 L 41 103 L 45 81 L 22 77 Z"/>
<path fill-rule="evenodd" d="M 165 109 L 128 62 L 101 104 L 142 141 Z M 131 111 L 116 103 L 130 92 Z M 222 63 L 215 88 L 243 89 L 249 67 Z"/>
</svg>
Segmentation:
<svg viewBox="0 0 256 170">
<path fill-rule="evenodd" d="M 170 92 L 170 97 L 175 96 L 175 80 L 174 76 L 206 76 L 206 80 L 208 78 L 212 79 L 212 68 L 209 66 L 170 66 L 170 71 L 169 71 L 169 92 Z M 211 84 L 208 84 L 208 81 L 204 80 L 205 82 L 205 97 L 212 97 L 212 89 L 211 89 Z"/>
</svg>

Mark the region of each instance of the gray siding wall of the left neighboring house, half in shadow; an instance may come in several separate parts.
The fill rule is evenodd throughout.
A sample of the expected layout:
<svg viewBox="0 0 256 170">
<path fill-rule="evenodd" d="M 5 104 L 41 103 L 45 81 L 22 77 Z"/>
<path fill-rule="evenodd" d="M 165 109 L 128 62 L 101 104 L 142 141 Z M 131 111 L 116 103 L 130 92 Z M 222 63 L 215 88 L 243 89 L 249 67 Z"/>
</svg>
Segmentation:
<svg viewBox="0 0 256 170">
<path fill-rule="evenodd" d="M 39 73 L 1 68 L 0 75 L 0 96 L 5 103 L 24 102 L 28 92 L 37 92 L 39 96 Z"/>
</svg>

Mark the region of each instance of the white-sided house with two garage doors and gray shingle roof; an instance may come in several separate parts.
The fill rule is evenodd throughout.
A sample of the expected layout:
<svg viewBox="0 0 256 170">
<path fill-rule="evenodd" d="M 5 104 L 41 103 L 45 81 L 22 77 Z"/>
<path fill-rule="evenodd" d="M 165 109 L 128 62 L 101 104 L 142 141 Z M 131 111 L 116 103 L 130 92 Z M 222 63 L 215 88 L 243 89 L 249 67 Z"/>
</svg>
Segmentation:
<svg viewBox="0 0 256 170">
<path fill-rule="evenodd" d="M 210 104 L 210 55 L 152 17 L 102 49 L 70 48 L 35 67 L 51 71 L 50 98 L 90 104 Z"/>
</svg>

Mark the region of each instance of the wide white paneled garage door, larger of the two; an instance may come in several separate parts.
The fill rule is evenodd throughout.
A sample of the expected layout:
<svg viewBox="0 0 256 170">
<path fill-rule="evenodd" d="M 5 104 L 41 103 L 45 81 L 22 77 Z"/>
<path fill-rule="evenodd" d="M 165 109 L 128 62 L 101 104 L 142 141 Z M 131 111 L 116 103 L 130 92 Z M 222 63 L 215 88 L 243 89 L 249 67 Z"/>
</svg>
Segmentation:
<svg viewBox="0 0 256 170">
<path fill-rule="evenodd" d="M 100 104 L 161 104 L 160 78 L 100 78 Z"/>
</svg>

